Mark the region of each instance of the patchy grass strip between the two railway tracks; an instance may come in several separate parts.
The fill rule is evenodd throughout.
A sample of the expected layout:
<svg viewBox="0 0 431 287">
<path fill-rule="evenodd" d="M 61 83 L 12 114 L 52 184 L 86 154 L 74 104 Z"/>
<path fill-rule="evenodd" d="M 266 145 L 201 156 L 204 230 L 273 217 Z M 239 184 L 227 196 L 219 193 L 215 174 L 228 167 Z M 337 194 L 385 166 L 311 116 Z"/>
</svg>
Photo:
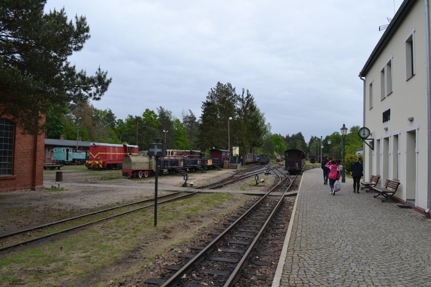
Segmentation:
<svg viewBox="0 0 431 287">
<path fill-rule="evenodd" d="M 214 214 L 217 220 L 234 207 L 223 209 L 228 201 L 235 202 L 235 207 L 245 199 L 238 195 L 214 193 L 200 194 L 179 202 L 172 202 L 158 207 L 157 226 L 154 226 L 153 210 L 148 209 L 123 217 L 93 224 L 88 228 L 39 247 L 16 251 L 0 256 L 0 285 L 27 286 L 78 286 L 86 278 L 92 277 L 104 268 L 115 265 L 124 259 L 126 254 L 139 248 L 146 248 L 143 242 L 158 242 L 165 234 L 176 232 L 179 222 L 187 222 L 190 216 L 212 214 L 214 207 L 222 209 L 222 214 Z M 203 222 L 202 224 L 208 224 Z M 189 240 L 202 226 L 190 227 L 187 237 L 174 237 L 166 246 L 148 251 L 149 257 L 139 266 L 130 266 L 129 270 L 112 274 L 120 279 L 136 272 L 144 264 L 152 262 L 169 246 Z M 99 286 L 106 286 L 106 282 Z"/>
</svg>

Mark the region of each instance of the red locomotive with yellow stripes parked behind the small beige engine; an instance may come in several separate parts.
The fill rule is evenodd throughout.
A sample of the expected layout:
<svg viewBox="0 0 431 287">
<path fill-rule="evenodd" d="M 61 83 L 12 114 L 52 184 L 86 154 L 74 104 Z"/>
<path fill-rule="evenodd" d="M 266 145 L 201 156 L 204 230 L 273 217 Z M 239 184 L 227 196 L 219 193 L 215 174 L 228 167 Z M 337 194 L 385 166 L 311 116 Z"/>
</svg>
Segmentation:
<svg viewBox="0 0 431 287">
<path fill-rule="evenodd" d="M 85 166 L 88 169 L 121 168 L 126 155 L 138 155 L 138 146 L 91 142 Z"/>
</svg>

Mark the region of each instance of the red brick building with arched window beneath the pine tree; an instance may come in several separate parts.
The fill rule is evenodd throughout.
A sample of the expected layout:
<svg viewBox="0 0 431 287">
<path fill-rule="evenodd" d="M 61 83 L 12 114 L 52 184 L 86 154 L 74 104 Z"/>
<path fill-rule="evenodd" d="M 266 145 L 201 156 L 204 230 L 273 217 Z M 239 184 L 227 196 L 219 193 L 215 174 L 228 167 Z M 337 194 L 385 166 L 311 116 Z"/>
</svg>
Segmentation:
<svg viewBox="0 0 431 287">
<path fill-rule="evenodd" d="M 25 133 L 0 116 L 0 192 L 44 187 L 44 147 L 44 134 Z"/>
</svg>

